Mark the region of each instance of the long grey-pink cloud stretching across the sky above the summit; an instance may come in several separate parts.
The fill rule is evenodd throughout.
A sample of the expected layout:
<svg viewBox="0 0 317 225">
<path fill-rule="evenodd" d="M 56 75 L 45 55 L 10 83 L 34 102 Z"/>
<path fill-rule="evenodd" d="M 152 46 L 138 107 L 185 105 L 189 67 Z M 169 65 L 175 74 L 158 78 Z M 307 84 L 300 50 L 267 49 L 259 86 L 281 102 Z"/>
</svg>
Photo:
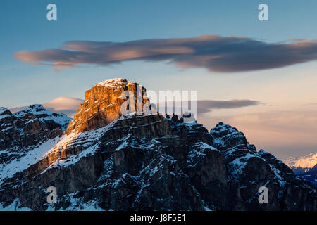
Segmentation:
<svg viewBox="0 0 317 225">
<path fill-rule="evenodd" d="M 13 55 L 25 63 L 52 65 L 56 70 L 81 65 L 108 66 L 129 60 L 169 60 L 184 69 L 242 72 L 282 68 L 316 60 L 317 41 L 293 40 L 280 44 L 218 35 L 127 42 L 66 41 L 59 49 L 18 51 Z"/>
</svg>

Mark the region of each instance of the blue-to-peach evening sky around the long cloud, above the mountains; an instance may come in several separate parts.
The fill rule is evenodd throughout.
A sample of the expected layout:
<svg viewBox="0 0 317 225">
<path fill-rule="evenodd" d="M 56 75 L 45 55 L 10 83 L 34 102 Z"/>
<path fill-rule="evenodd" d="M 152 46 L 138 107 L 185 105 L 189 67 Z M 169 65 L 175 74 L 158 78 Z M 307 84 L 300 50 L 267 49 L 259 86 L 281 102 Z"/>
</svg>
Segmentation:
<svg viewBox="0 0 317 225">
<path fill-rule="evenodd" d="M 46 20 L 49 3 L 57 6 L 57 21 Z M 258 20 L 261 3 L 268 4 L 269 21 Z M 297 39 L 316 41 L 316 9 L 315 0 L 4 0 L 0 7 L 0 105 L 15 108 L 61 96 L 85 98 L 85 91 L 98 82 L 123 77 L 154 91 L 197 90 L 199 100 L 259 101 L 259 105 L 244 108 L 214 109 L 197 119 L 207 129 L 220 120 L 231 124 L 243 131 L 250 143 L 279 158 L 316 153 L 317 53 L 313 46 L 304 49 L 305 59 L 313 56 L 306 63 L 248 72 L 211 71 L 206 65 L 184 69 L 169 63 L 170 58 L 80 65 L 56 72 L 49 65 L 31 65 L 13 56 L 19 51 L 59 49 L 66 41 L 182 40 L 207 34 L 247 37 L 270 47 Z M 268 49 L 268 53 L 275 56 L 280 51 Z M 195 60 L 195 65 L 202 65 L 196 59 L 186 58 L 181 63 Z"/>
</svg>

